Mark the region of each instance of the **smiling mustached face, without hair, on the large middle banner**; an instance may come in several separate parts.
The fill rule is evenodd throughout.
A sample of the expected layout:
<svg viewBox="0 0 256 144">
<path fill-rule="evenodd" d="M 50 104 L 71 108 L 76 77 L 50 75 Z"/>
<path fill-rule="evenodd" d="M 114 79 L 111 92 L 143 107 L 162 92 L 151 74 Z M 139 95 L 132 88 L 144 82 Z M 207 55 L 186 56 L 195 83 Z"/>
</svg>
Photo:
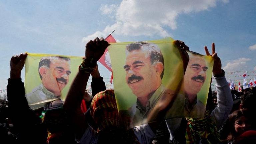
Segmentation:
<svg viewBox="0 0 256 144">
<path fill-rule="evenodd" d="M 149 54 L 142 50 L 133 50 L 127 55 L 124 66 L 125 79 L 133 94 L 137 97 L 148 96 L 158 88 L 155 83 L 157 81 L 155 67 L 150 63 Z"/>
</svg>

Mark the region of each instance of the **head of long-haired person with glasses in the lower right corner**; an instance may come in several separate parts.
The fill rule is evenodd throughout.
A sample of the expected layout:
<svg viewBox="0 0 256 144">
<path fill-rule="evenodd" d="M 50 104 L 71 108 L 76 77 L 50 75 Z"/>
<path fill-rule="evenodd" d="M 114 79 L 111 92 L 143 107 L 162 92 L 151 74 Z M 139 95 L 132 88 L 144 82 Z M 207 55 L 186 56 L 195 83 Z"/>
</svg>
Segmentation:
<svg viewBox="0 0 256 144">
<path fill-rule="evenodd" d="M 242 112 L 240 110 L 234 111 L 229 115 L 228 119 L 228 128 L 230 133 L 227 140 L 234 140 L 236 137 L 241 135 L 247 130 L 250 130 L 252 127 L 251 117 L 248 113 Z"/>
</svg>

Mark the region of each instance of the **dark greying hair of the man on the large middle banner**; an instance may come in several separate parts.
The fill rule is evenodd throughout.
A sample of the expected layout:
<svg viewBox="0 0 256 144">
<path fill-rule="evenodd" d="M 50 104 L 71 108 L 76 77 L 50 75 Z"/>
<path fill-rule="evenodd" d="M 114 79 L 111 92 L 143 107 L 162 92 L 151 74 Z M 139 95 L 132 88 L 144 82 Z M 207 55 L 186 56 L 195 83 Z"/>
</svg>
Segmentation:
<svg viewBox="0 0 256 144">
<path fill-rule="evenodd" d="M 150 63 L 151 65 L 156 64 L 156 62 L 161 62 L 164 66 L 164 57 L 160 49 L 156 44 L 152 43 L 147 43 L 147 42 L 134 42 L 126 46 L 126 53 L 132 52 L 134 50 L 145 50 L 150 52 Z M 163 72 L 161 73 L 161 79 L 164 76 L 164 69 Z"/>
</svg>

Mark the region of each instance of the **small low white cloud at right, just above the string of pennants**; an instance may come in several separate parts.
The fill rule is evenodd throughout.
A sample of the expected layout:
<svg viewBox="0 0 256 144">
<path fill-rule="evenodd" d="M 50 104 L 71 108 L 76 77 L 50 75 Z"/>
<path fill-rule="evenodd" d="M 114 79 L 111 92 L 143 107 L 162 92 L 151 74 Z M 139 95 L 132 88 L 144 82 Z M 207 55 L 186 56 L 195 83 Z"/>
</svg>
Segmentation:
<svg viewBox="0 0 256 144">
<path fill-rule="evenodd" d="M 247 67 L 246 62 L 250 61 L 249 58 L 239 58 L 236 60 L 232 60 L 231 62 L 228 62 L 226 66 L 223 67 L 225 71 L 236 71 L 236 70 L 242 70 Z"/>
</svg>

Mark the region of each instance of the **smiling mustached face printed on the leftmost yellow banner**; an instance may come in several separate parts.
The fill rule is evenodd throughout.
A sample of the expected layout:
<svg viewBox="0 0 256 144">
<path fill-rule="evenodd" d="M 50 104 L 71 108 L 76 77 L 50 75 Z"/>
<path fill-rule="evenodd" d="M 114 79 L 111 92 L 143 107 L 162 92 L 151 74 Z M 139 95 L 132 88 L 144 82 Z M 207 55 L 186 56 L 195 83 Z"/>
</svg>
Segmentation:
<svg viewBox="0 0 256 144">
<path fill-rule="evenodd" d="M 55 95 L 60 95 L 69 81 L 70 73 L 68 61 L 61 58 L 52 58 L 50 68 L 45 69 L 45 74 L 42 75 L 42 83 L 46 89 Z"/>
</svg>

